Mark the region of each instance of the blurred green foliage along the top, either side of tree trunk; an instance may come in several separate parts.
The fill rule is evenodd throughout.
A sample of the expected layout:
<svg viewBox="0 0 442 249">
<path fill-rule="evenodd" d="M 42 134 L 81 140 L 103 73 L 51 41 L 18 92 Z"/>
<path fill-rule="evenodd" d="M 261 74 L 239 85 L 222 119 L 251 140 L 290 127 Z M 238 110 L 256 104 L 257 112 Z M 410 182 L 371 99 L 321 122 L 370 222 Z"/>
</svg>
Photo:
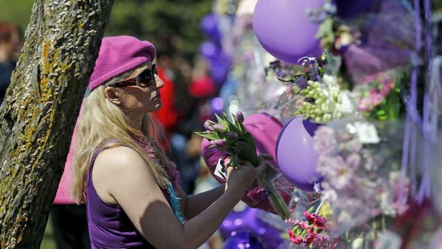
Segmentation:
<svg viewBox="0 0 442 249">
<path fill-rule="evenodd" d="M 115 1 L 105 36 L 132 35 L 151 41 L 159 53 L 194 55 L 204 39 L 200 19 L 209 14 L 212 0 Z M 0 20 L 23 31 L 29 24 L 32 0 L 0 0 Z"/>
</svg>

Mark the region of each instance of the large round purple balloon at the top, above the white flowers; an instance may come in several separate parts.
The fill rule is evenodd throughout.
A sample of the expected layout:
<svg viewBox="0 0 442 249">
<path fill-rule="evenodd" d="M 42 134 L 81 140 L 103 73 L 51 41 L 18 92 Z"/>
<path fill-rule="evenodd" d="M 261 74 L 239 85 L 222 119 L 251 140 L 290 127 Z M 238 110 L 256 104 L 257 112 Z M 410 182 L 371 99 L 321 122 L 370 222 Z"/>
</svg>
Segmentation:
<svg viewBox="0 0 442 249">
<path fill-rule="evenodd" d="M 319 56 L 318 24 L 309 21 L 306 8 L 317 8 L 323 0 L 258 0 L 253 29 L 261 45 L 276 58 L 296 64 L 307 55 Z"/>
</svg>

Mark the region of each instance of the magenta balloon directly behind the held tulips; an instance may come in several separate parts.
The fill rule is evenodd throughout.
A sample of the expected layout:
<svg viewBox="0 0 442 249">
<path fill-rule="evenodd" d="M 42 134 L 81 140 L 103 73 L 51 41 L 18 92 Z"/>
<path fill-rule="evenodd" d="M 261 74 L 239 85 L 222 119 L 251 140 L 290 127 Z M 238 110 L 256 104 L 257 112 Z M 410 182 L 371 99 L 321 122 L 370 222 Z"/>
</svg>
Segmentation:
<svg viewBox="0 0 442 249">
<path fill-rule="evenodd" d="M 258 113 L 248 116 L 244 120 L 243 124 L 247 131 L 250 132 L 255 138 L 256 150 L 258 154 L 267 153 L 272 155 L 273 160 L 270 162 L 278 168 L 278 164 L 276 162 L 276 141 L 278 140 L 279 133 L 283 127 L 282 123 L 267 113 Z M 220 157 L 226 157 L 227 153 L 215 148 L 208 148 L 210 145 L 211 144 L 207 139 L 202 139 L 201 154 L 205 163 L 207 164 L 207 167 L 210 169 L 210 172 L 213 175 L 216 164 L 218 163 L 218 159 Z M 213 175 L 213 177 L 220 183 L 226 182 L 226 180 L 215 175 Z M 278 184 L 284 185 L 284 187 L 288 188 L 293 186 L 286 179 L 279 181 Z M 291 196 L 284 190 L 281 190 L 280 194 L 286 203 L 290 201 Z M 250 207 L 274 212 L 272 205 L 267 199 L 267 196 L 258 187 L 247 191 L 242 200 Z"/>
</svg>

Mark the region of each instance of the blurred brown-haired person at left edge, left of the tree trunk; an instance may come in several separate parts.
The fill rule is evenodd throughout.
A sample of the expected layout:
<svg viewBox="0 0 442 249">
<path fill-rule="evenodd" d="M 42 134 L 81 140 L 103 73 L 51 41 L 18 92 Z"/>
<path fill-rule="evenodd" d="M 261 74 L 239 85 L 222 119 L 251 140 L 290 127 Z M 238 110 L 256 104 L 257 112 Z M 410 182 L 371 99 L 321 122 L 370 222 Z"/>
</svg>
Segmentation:
<svg viewBox="0 0 442 249">
<path fill-rule="evenodd" d="M 22 46 L 20 29 L 9 22 L 0 21 L 0 105 L 11 83 Z"/>
</svg>

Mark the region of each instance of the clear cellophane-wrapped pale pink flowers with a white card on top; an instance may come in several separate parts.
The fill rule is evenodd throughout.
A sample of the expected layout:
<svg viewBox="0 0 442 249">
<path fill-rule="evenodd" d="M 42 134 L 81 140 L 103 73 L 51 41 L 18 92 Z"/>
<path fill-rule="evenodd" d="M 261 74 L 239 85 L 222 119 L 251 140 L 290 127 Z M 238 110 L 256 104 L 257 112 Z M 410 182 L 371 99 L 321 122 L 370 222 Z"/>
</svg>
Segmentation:
<svg viewBox="0 0 442 249">
<path fill-rule="evenodd" d="M 373 222 L 374 230 L 382 231 L 385 220 L 406 208 L 409 179 L 400 172 L 402 150 L 397 146 L 402 143 L 402 131 L 398 121 L 369 123 L 360 117 L 316 130 L 316 170 L 324 177 L 321 199 L 333 209 L 333 234 Z M 377 141 L 366 140 L 364 136 L 373 132 Z"/>
</svg>

